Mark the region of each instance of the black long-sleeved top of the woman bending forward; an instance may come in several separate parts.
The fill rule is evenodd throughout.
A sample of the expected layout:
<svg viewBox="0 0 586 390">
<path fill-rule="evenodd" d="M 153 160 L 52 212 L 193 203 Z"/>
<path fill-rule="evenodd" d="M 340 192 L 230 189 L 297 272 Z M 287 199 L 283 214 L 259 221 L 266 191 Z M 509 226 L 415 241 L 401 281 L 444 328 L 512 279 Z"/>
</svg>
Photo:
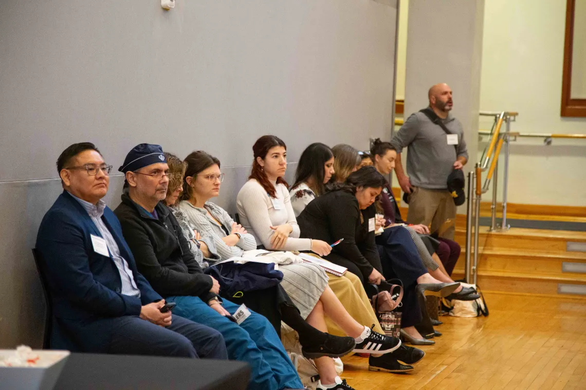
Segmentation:
<svg viewBox="0 0 586 390">
<path fill-rule="evenodd" d="M 360 223 L 360 213 L 364 222 Z M 374 204 L 360 210 L 356 196 L 345 190 L 327 192 L 311 201 L 297 218 L 302 238 L 323 240 L 333 244 L 332 253 L 353 261 L 364 278 L 373 268 L 383 272 L 379 251 L 374 242 L 374 230 L 369 232 L 369 219 L 374 218 Z M 328 258 L 326 256 L 325 258 Z"/>
</svg>

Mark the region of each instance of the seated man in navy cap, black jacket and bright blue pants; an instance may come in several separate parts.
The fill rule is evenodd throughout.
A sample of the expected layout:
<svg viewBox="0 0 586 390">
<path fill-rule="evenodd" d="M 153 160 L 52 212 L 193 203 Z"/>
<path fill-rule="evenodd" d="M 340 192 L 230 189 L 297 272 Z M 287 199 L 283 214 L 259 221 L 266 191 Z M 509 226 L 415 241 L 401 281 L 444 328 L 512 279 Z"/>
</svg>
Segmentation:
<svg viewBox="0 0 586 390">
<path fill-rule="evenodd" d="M 156 292 L 177 303 L 175 312 L 213 327 L 226 340 L 228 356 L 250 364 L 248 390 L 301 389 L 303 385 L 268 320 L 219 297 L 220 284 L 193 257 L 189 241 L 165 205 L 169 167 L 158 145 L 139 144 L 120 171 L 127 190 L 114 210 L 137 267 Z M 230 315 L 244 320 L 238 325 Z"/>
</svg>

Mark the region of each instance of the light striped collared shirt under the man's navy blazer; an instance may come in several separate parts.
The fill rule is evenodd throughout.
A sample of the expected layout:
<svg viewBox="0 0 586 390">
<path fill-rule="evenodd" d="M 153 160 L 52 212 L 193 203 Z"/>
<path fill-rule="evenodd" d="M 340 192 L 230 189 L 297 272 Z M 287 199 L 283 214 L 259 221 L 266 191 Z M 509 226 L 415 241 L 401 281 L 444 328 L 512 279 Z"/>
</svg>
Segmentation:
<svg viewBox="0 0 586 390">
<path fill-rule="evenodd" d="M 77 198 L 77 196 L 74 196 L 71 193 L 70 195 L 73 196 L 73 198 L 75 198 L 81 206 L 83 206 L 91 220 L 93 220 L 94 224 L 100 231 L 102 238 L 106 241 L 108 251 L 110 251 L 110 258 L 114 261 L 114 264 L 116 264 L 116 268 L 118 268 L 118 272 L 120 273 L 120 280 L 122 282 L 121 291 L 116 292 L 119 292 L 122 295 L 140 297 L 141 291 L 137 288 L 132 271 L 130 270 L 130 267 L 128 267 L 128 263 L 126 260 L 124 260 L 124 257 L 120 256 L 120 249 L 118 248 L 118 244 L 102 220 L 106 203 L 100 199 L 97 205 L 93 205 L 90 202 L 86 202 L 83 199 Z"/>
</svg>

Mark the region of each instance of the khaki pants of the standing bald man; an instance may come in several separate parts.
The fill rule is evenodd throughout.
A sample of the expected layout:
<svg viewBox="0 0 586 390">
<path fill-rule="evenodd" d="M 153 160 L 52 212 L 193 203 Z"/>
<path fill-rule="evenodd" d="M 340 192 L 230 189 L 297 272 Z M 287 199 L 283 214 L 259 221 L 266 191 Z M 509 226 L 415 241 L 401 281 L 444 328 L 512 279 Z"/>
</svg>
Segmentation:
<svg viewBox="0 0 586 390">
<path fill-rule="evenodd" d="M 407 223 L 430 226 L 431 233 L 436 232 L 448 219 L 452 220 L 451 226 L 445 230 L 441 237 L 453 240 L 456 222 L 456 205 L 454 198 L 447 189 L 427 189 L 414 187 L 409 195 L 409 211 Z"/>
</svg>

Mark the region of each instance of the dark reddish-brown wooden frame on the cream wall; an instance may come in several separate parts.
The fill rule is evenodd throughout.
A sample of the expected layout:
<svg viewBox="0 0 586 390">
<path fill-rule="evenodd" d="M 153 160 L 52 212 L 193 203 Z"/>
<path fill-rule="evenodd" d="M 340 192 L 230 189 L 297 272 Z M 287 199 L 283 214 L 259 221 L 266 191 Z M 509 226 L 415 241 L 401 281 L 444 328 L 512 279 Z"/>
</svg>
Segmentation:
<svg viewBox="0 0 586 390">
<path fill-rule="evenodd" d="M 561 116 L 586 117 L 586 99 L 572 99 L 572 56 L 574 49 L 575 0 L 565 8 L 564 74 L 561 82 Z"/>
</svg>

